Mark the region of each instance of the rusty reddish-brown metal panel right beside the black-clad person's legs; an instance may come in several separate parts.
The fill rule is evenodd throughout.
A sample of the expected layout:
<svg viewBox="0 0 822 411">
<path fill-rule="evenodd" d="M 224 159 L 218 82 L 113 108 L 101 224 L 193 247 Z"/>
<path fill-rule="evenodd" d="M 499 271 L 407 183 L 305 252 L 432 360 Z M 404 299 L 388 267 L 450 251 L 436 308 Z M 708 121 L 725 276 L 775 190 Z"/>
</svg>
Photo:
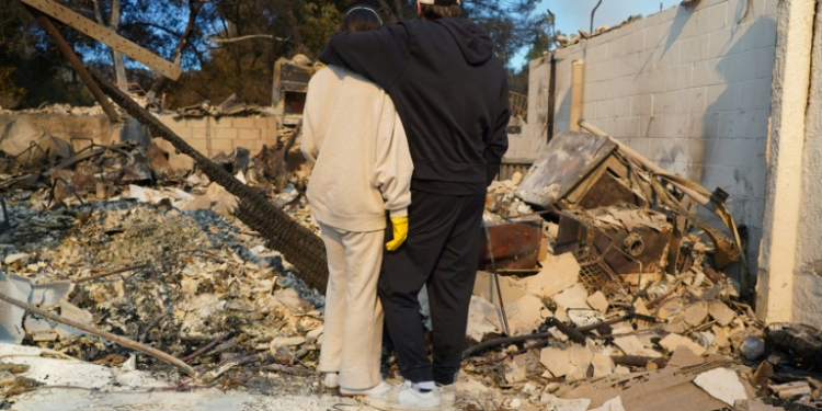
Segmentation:
<svg viewBox="0 0 822 411">
<path fill-rule="evenodd" d="M 540 217 L 523 218 L 513 222 L 488 222 L 488 236 L 484 228 L 480 230 L 480 270 L 492 269 L 491 255 L 496 263 L 496 270 L 533 270 L 537 266 L 543 240 Z M 487 237 L 491 238 L 490 252 Z"/>
</svg>

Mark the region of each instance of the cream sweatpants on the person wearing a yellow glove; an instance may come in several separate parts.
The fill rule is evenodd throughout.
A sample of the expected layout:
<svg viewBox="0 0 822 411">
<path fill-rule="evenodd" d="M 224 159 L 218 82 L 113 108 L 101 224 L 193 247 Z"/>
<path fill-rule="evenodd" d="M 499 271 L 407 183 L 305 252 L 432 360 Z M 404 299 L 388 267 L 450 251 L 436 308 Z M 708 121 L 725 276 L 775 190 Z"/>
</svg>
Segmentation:
<svg viewBox="0 0 822 411">
<path fill-rule="evenodd" d="M 340 387 L 372 388 L 383 380 L 383 306 L 377 298 L 377 282 L 385 230 L 352 232 L 322 222 L 320 229 L 329 281 L 318 369 L 339 372 Z"/>
</svg>

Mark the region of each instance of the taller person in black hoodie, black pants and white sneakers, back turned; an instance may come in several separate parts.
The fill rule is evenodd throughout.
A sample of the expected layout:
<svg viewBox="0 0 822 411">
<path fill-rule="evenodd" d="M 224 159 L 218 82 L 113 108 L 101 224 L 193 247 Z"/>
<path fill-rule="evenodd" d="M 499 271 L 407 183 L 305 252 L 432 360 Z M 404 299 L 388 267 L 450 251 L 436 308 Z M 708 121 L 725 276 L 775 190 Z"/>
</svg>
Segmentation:
<svg viewBox="0 0 822 411">
<path fill-rule="evenodd" d="M 510 118 L 504 68 L 488 33 L 457 19 L 460 0 L 418 0 L 416 8 L 419 21 L 336 33 L 320 55 L 322 62 L 349 68 L 387 91 L 414 163 L 408 240 L 386 253 L 379 281 L 406 384 L 368 398 L 392 410 L 435 410 L 455 400 L 486 191 L 507 150 Z M 418 300 L 423 286 L 431 304 L 433 367 Z"/>
</svg>

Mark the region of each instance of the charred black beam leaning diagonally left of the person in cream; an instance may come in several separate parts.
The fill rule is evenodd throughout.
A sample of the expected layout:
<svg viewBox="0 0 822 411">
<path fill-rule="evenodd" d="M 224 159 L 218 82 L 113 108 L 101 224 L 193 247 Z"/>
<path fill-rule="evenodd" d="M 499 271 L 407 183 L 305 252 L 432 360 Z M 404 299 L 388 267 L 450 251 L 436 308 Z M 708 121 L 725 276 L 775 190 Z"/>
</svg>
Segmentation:
<svg viewBox="0 0 822 411">
<path fill-rule="evenodd" d="M 191 157 L 208 175 L 208 179 L 237 196 L 239 201 L 239 206 L 235 210 L 237 218 L 263 235 L 269 240 L 271 248 L 283 253 L 285 259 L 294 264 L 297 276 L 308 286 L 324 294 L 328 284 L 328 263 L 326 246 L 319 237 L 271 204 L 262 191 L 243 184 L 192 148 L 103 76 L 96 72 L 93 72 L 92 76 L 106 95 L 132 117 L 149 128 L 152 137 L 159 137 L 171 142 L 180 152 Z"/>
</svg>

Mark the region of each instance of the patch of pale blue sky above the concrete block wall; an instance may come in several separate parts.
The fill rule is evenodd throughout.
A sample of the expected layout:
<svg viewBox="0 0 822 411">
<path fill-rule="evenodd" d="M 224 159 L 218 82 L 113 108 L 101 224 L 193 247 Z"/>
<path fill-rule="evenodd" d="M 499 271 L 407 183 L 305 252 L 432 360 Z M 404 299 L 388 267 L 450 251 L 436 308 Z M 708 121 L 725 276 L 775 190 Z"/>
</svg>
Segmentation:
<svg viewBox="0 0 822 411">
<path fill-rule="evenodd" d="M 557 16 L 557 30 L 562 33 L 573 34 L 579 28 L 585 31 L 591 26 L 591 10 L 597 0 L 543 0 L 537 9 L 545 12 L 549 9 Z M 682 0 L 603 0 L 594 16 L 594 30 L 603 24 L 616 25 L 631 15 L 650 15 L 667 10 Z M 525 61 L 520 57 L 514 61 L 514 67 L 521 67 Z"/>
</svg>

